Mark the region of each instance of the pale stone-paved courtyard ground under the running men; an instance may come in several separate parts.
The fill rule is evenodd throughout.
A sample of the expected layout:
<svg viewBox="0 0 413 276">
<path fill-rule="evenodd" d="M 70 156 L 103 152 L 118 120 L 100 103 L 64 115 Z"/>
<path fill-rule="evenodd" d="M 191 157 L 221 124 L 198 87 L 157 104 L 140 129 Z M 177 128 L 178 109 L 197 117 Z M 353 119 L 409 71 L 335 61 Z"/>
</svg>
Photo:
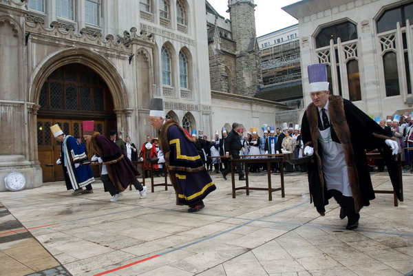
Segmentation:
<svg viewBox="0 0 413 276">
<path fill-rule="evenodd" d="M 111 203 L 101 182 L 94 184 L 93 194 L 79 196 L 65 191 L 63 182 L 54 182 L 0 193 L 0 202 L 12 214 L 0 217 L 0 225 L 14 216 L 33 236 L 19 242 L 39 241 L 60 262 L 52 258 L 53 264 L 76 276 L 392 276 L 413 268 L 410 173 L 403 175 L 405 202 L 394 207 L 392 195 L 377 194 L 361 211 L 357 231 L 345 229 L 346 219 L 339 219 L 335 202 L 330 201 L 325 217 L 318 215 L 304 173 L 286 175 L 286 197 L 275 192 L 272 202 L 265 191 L 251 191 L 249 196 L 237 191 L 233 199 L 231 181 L 212 177 L 218 189 L 199 213 L 176 206 L 171 187 L 156 187 L 143 200 L 137 191 L 125 191 L 120 201 Z M 250 186 L 266 186 L 263 173 L 252 174 L 250 180 Z M 386 173 L 374 174 L 372 180 L 378 189 L 391 189 Z M 273 176 L 277 186 L 279 177 Z M 14 256 L 10 248 L 16 241 L 1 242 L 26 232 L 21 224 L 1 229 L 0 275 L 30 275 L 30 270 L 32 275 L 49 275 L 35 274 L 39 270 L 19 260 L 19 255 L 33 252 L 21 249 Z M 19 266 L 7 270 L 10 262 Z M 31 262 L 38 263 L 33 257 Z"/>
</svg>

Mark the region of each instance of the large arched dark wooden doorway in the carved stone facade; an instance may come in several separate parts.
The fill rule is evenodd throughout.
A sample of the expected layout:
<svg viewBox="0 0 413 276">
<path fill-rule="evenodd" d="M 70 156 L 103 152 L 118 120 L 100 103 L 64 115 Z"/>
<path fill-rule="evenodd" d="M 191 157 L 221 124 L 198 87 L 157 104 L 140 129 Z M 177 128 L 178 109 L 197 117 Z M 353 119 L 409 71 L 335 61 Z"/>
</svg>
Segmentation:
<svg viewBox="0 0 413 276">
<path fill-rule="evenodd" d="M 37 145 L 43 170 L 43 182 L 63 180 L 63 169 L 56 164 L 61 146 L 50 131 L 59 124 L 65 134 L 81 137 L 83 120 L 94 120 L 95 129 L 107 135 L 116 129 L 114 103 L 109 89 L 100 76 L 80 63 L 70 63 L 54 70 L 41 88 L 37 117 Z M 94 167 L 98 176 L 98 167 Z"/>
</svg>

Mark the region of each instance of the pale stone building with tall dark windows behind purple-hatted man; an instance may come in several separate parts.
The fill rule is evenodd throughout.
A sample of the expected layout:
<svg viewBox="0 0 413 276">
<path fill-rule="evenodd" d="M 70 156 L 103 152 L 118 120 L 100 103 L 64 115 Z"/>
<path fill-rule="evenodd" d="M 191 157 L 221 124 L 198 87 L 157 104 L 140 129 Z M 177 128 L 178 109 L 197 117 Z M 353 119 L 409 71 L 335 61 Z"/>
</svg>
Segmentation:
<svg viewBox="0 0 413 276">
<path fill-rule="evenodd" d="M 412 111 L 412 0 L 304 0 L 283 9 L 299 19 L 304 106 L 308 65 L 326 63 L 330 92 L 367 114 Z"/>
</svg>

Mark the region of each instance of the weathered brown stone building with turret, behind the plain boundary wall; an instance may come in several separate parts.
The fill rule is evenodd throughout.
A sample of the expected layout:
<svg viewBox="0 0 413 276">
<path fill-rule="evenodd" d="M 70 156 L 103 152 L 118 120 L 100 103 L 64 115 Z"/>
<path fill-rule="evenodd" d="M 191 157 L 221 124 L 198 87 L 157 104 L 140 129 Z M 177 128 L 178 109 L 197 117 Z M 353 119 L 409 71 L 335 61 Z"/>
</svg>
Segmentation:
<svg viewBox="0 0 413 276">
<path fill-rule="evenodd" d="M 229 0 L 231 20 L 207 1 L 211 89 L 253 97 L 262 85 L 253 0 Z"/>
</svg>

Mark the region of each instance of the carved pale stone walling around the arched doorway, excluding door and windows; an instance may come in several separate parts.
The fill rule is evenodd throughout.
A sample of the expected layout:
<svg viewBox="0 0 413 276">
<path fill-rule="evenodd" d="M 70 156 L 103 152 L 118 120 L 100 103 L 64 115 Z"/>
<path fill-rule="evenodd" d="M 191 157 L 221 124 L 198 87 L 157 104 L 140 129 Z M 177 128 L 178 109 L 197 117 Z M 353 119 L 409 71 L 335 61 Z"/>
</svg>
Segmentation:
<svg viewBox="0 0 413 276">
<path fill-rule="evenodd" d="M 84 0 L 75 3 L 81 5 Z M 139 1 L 100 3 L 99 23 L 90 25 L 85 23 L 85 14 L 81 14 L 84 9 L 74 9 L 75 20 L 63 20 L 50 10 L 54 5 L 46 5 L 45 10 L 39 11 L 30 10 L 27 1 L 0 1 L 0 128 L 8 134 L 3 137 L 0 148 L 0 191 L 6 189 L 3 179 L 12 169 L 23 173 L 28 188 L 41 186 L 42 174 L 47 171 L 45 164 L 56 162 L 55 156 L 44 149 L 42 154 L 50 158 L 47 157 L 46 163 L 41 161 L 44 156 L 39 153 L 39 134 L 45 137 L 42 131 L 47 130 L 47 145 L 54 145 L 54 139 L 50 136 L 50 123 L 47 129 L 39 123 L 47 120 L 45 106 L 39 103 L 47 103 L 41 98 L 47 79 L 66 65 L 72 65 L 75 70 L 87 67 L 101 78 L 107 87 L 105 95 L 110 94 L 107 98 L 112 99 L 105 105 L 113 106 L 114 127 L 123 138 L 131 136 L 136 145 L 148 134 L 156 135 L 148 120 L 153 97 L 164 98 L 165 113 L 173 112 L 178 121 L 187 116 L 193 121 L 193 127 L 212 129 L 208 52 L 204 47 L 207 44 L 205 6 L 186 1 L 191 14 L 184 26 L 177 24 L 173 10 L 165 25 L 160 22 L 158 12 L 149 13 L 150 17 L 136 17 L 134 14 L 140 14 Z M 125 10 L 130 16 L 121 12 Z M 196 30 L 195 26 L 202 28 Z M 169 87 L 162 85 L 163 45 L 171 49 L 173 80 Z M 181 88 L 179 82 L 180 51 L 187 54 L 189 63 L 187 88 Z M 81 86 L 76 87 L 81 101 Z M 70 92 L 63 89 L 61 93 L 67 97 Z M 67 100 L 69 98 L 63 98 L 65 106 L 69 105 Z M 74 120 L 88 120 L 87 115 L 80 118 L 77 113 L 81 110 L 76 110 L 78 112 L 72 112 Z M 64 109 L 54 116 L 71 119 L 70 112 Z"/>
</svg>

